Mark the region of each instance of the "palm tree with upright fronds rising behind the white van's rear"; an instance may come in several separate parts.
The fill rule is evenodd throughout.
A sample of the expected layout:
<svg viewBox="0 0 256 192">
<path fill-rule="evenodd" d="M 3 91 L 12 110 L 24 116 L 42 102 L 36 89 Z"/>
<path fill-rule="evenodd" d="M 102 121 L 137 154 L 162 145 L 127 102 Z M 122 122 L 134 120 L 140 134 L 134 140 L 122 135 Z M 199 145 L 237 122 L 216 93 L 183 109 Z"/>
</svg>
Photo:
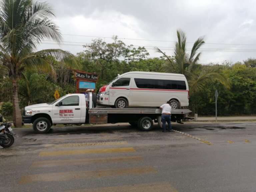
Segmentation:
<svg viewBox="0 0 256 192">
<path fill-rule="evenodd" d="M 197 51 L 205 43 L 203 37 L 199 37 L 195 41 L 190 55 L 186 51 L 186 34 L 182 30 L 177 30 L 177 37 L 178 42 L 175 43 L 174 58 L 170 58 L 156 47 L 156 51 L 164 54 L 168 61 L 160 68 L 160 72 L 184 74 L 187 78 L 191 95 L 203 89 L 212 80 L 218 80 L 229 88 L 229 82 L 220 67 L 204 67 L 198 63 L 201 52 L 197 53 Z"/>
</svg>

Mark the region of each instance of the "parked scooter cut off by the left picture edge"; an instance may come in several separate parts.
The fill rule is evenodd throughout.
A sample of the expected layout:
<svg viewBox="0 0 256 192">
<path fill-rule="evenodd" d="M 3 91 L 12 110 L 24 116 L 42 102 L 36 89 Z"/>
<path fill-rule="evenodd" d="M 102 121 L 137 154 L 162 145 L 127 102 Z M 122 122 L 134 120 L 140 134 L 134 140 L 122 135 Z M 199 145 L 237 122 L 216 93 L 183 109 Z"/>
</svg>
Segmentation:
<svg viewBox="0 0 256 192">
<path fill-rule="evenodd" d="M 0 146 L 3 148 L 10 147 L 14 143 L 14 136 L 16 133 L 11 128 L 12 122 L 1 123 L 0 125 Z"/>
</svg>

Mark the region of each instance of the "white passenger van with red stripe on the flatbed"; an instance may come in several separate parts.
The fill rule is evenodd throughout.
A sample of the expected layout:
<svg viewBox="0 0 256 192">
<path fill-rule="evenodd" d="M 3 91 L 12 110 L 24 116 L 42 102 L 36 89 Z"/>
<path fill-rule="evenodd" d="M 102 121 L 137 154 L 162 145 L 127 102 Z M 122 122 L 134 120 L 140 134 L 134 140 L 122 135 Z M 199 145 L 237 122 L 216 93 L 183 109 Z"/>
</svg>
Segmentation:
<svg viewBox="0 0 256 192">
<path fill-rule="evenodd" d="M 116 108 L 128 106 L 159 107 L 171 101 L 173 109 L 188 106 L 186 77 L 175 73 L 132 71 L 118 75 L 100 88 L 97 103 Z"/>
</svg>

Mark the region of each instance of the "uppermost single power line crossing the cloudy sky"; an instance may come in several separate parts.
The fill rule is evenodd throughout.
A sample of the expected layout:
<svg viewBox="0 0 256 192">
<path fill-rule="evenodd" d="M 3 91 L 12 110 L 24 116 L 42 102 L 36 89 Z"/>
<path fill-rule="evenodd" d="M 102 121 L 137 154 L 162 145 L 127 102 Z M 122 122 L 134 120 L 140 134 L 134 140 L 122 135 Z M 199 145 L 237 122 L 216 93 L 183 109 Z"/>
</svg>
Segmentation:
<svg viewBox="0 0 256 192">
<path fill-rule="evenodd" d="M 112 39 L 112 37 L 101 37 L 101 36 L 90 36 L 90 35 L 72 35 L 72 34 L 63 34 L 63 35 Z M 137 41 L 172 42 L 172 43 L 177 42 L 177 41 L 167 41 L 167 40 L 132 39 L 132 38 L 119 38 L 119 37 L 118 37 L 118 39 L 137 40 Z M 187 43 L 194 43 L 194 42 L 187 42 Z M 253 45 L 253 46 L 256 45 L 256 44 L 237 44 L 237 43 L 205 43 L 205 44 L 213 44 L 213 45 Z"/>
</svg>

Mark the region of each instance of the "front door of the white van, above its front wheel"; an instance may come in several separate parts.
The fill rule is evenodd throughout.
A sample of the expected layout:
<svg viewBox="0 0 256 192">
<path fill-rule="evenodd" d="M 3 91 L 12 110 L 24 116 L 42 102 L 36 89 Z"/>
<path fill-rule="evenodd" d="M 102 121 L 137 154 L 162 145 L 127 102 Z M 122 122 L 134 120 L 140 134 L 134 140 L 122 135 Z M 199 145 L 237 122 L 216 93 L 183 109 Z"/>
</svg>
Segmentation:
<svg viewBox="0 0 256 192">
<path fill-rule="evenodd" d="M 119 97 L 125 97 L 129 103 L 130 82 L 130 77 L 123 77 L 112 83 L 109 87 L 109 105 L 114 105 Z"/>
</svg>

